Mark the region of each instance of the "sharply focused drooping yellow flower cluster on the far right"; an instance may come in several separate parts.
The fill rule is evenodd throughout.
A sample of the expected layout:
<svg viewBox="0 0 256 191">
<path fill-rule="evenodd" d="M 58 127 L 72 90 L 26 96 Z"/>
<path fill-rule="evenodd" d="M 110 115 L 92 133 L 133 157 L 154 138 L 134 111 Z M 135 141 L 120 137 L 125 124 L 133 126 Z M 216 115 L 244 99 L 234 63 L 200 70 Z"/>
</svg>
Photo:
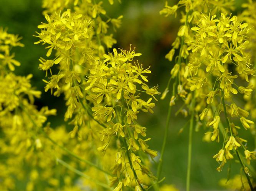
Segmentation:
<svg viewBox="0 0 256 191">
<path fill-rule="evenodd" d="M 250 128 L 249 124 L 253 124 L 253 121 L 246 119 L 249 113 L 238 107 L 232 99 L 230 105 L 225 104 L 225 100 L 230 102 L 230 98 L 238 94 L 238 92 L 250 94 L 252 91 L 251 86 L 243 87 L 235 83 L 238 76 L 248 82 L 248 76 L 254 73 L 250 64 L 250 57 L 245 52 L 246 45 L 249 43 L 246 39 L 246 34 L 248 34 L 247 27 L 248 24 L 239 22 L 236 16 L 231 17 L 221 13 L 221 18 L 216 19 L 216 15 L 202 15 L 197 26 L 192 27 L 192 31 L 195 31 L 195 38 L 187 42 L 190 45 L 188 50 L 192 51 L 188 63 L 192 77 L 188 79 L 190 83 L 188 86 L 190 86 L 191 91 L 201 89 L 200 93 L 205 94 L 206 97 L 205 104 L 207 107 L 200 114 L 201 120 L 206 117 L 208 110 L 212 109 L 211 104 L 218 102 L 219 105 L 223 104 L 223 109 L 218 107 L 214 120 L 209 123 L 209 126 L 213 126 L 212 141 L 215 139 L 217 141 L 220 140 L 218 124 L 220 123 L 220 113 L 222 111 L 230 114 L 230 117 L 239 117 L 241 125 L 245 129 Z M 236 72 L 228 68 L 228 63 L 233 65 L 238 75 L 233 74 Z M 199 70 L 201 74 L 197 75 Z M 215 82 L 215 85 L 211 82 Z M 209 87 L 208 84 L 212 88 L 204 88 L 205 86 Z M 219 100 L 217 98 L 218 95 L 220 95 Z M 228 117 L 226 116 L 226 118 Z M 220 151 L 223 155 L 225 150 L 225 154 L 223 157 L 217 158 L 217 161 L 223 162 L 220 167 L 224 165 L 226 159 L 233 159 L 230 151 L 233 148 L 240 147 L 244 141 L 244 139 L 239 138 L 236 130 L 238 127 L 234 123 L 229 121 L 228 126 L 230 126 L 230 136 L 224 138 L 223 142 L 226 142 L 226 145 Z M 217 156 L 215 155 L 215 157 Z"/>
</svg>

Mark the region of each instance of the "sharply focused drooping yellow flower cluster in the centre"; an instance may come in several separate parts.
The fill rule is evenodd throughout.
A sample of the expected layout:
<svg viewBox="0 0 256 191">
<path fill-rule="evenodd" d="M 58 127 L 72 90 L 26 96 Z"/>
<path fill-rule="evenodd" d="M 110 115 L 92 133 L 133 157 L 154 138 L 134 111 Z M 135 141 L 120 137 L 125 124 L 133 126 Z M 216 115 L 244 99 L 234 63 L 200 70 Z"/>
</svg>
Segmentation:
<svg viewBox="0 0 256 191">
<path fill-rule="evenodd" d="M 142 165 L 137 153 L 144 152 L 155 157 L 157 152 L 148 148 L 147 141 L 150 139 L 140 138 L 146 136 L 146 128 L 137 124 L 136 120 L 140 111 L 153 113 L 155 104 L 151 102 L 152 98 L 141 99 L 139 92 L 151 95 L 154 99 L 154 95 L 159 92 L 157 87 L 149 88 L 146 84 L 146 74 L 151 73 L 149 68 L 144 69 L 138 61 L 134 62 L 134 57 L 139 55 L 132 49 L 120 49 L 119 52 L 113 49 L 113 54 L 104 55 L 105 60 L 100 60 L 90 70 L 85 89 L 90 90 L 86 99 L 94 104 L 94 118 L 108 124 L 100 132 L 101 141 L 105 143 L 98 151 L 106 152 L 113 137 L 117 137 L 119 142 L 114 166 L 115 181 L 119 180 L 119 184 L 124 186 L 146 188 L 147 182 L 138 178 L 138 172 L 142 171 L 142 175 L 149 177 L 152 175 Z M 131 162 L 129 167 L 126 165 L 127 158 Z"/>
</svg>

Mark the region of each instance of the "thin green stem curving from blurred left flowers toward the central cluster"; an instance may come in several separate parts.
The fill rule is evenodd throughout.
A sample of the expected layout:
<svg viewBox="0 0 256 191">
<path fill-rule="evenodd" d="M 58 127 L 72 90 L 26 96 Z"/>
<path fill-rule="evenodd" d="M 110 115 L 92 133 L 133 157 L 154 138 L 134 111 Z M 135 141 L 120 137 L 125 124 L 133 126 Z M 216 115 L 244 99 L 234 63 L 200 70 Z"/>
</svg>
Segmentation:
<svg viewBox="0 0 256 191">
<path fill-rule="evenodd" d="M 33 118 L 31 117 L 31 115 L 28 113 L 28 111 L 25 110 L 25 108 L 23 107 L 22 104 L 20 104 L 20 107 L 22 108 L 22 110 L 26 113 L 26 115 L 28 116 L 28 118 L 30 119 L 31 123 L 33 123 L 33 125 L 37 128 L 40 129 L 41 133 L 44 134 L 44 136 L 50 140 L 53 144 L 55 144 L 56 146 L 58 146 L 59 148 L 61 148 L 63 151 L 66 151 L 68 154 L 70 154 L 71 156 L 73 156 L 74 158 L 80 160 L 81 162 L 85 162 L 88 163 L 88 165 L 91 165 L 92 167 L 96 168 L 97 170 L 106 173 L 109 176 L 113 176 L 111 173 L 103 170 L 102 168 L 98 167 L 97 165 L 95 165 L 94 163 L 90 162 L 89 160 L 85 160 L 81 157 L 79 157 L 78 155 L 74 154 L 72 151 L 69 151 L 66 147 L 61 146 L 60 144 L 58 144 L 56 141 L 54 141 L 53 139 L 51 139 L 48 134 L 45 133 L 45 131 L 43 131 L 43 129 L 38 128 L 38 126 L 36 125 L 35 121 L 33 120 Z"/>
</svg>

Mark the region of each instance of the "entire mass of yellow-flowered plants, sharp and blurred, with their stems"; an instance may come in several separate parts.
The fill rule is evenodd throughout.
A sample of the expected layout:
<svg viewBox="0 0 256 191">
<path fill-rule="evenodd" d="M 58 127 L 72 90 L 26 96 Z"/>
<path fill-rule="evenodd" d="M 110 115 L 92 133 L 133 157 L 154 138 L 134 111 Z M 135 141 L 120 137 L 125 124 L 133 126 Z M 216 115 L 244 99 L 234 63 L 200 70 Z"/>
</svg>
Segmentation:
<svg viewBox="0 0 256 191">
<path fill-rule="evenodd" d="M 174 65 L 160 98 L 171 92 L 158 152 L 150 149 L 147 128 L 138 122 L 140 113 L 154 113 L 158 86 L 149 85 L 151 68 L 139 62 L 142 54 L 132 45 L 114 48 L 112 31 L 123 16 L 108 16 L 106 3 L 117 1 L 43 0 L 45 20 L 38 23 L 34 44 L 46 49 L 39 58 L 45 92 L 64 95 L 66 125 L 52 127 L 47 117 L 56 109 L 36 107 L 41 92 L 31 86 L 32 74 L 14 73 L 21 63 L 12 48 L 24 46 L 21 38 L 0 28 L 0 190 L 177 190 L 160 183 L 178 100 L 183 102 L 178 112 L 190 115 L 186 189 L 193 131 L 203 128 L 203 140 L 219 147 L 212 154 L 216 170 L 232 161 L 241 165 L 240 176 L 220 184 L 253 190 L 256 156 L 244 132 L 255 138 L 256 4 L 248 0 L 241 14 L 233 15 L 233 0 L 165 3 L 160 14 L 180 16 L 181 26 L 165 56 Z"/>
</svg>

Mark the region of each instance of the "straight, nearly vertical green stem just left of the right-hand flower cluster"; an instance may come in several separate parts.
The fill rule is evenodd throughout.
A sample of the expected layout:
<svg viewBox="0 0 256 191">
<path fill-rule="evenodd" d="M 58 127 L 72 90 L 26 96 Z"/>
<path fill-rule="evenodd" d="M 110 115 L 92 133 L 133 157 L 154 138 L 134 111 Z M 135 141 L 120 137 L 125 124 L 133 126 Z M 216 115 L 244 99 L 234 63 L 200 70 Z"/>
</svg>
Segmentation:
<svg viewBox="0 0 256 191">
<path fill-rule="evenodd" d="M 192 158 L 192 133 L 194 126 L 194 115 L 195 115 L 195 98 L 193 97 L 191 103 L 191 117 L 190 117 L 190 125 L 189 125 L 189 136 L 188 136 L 188 167 L 187 167 L 187 180 L 186 180 L 186 190 L 190 190 L 190 173 L 191 173 L 191 158 Z"/>
</svg>

